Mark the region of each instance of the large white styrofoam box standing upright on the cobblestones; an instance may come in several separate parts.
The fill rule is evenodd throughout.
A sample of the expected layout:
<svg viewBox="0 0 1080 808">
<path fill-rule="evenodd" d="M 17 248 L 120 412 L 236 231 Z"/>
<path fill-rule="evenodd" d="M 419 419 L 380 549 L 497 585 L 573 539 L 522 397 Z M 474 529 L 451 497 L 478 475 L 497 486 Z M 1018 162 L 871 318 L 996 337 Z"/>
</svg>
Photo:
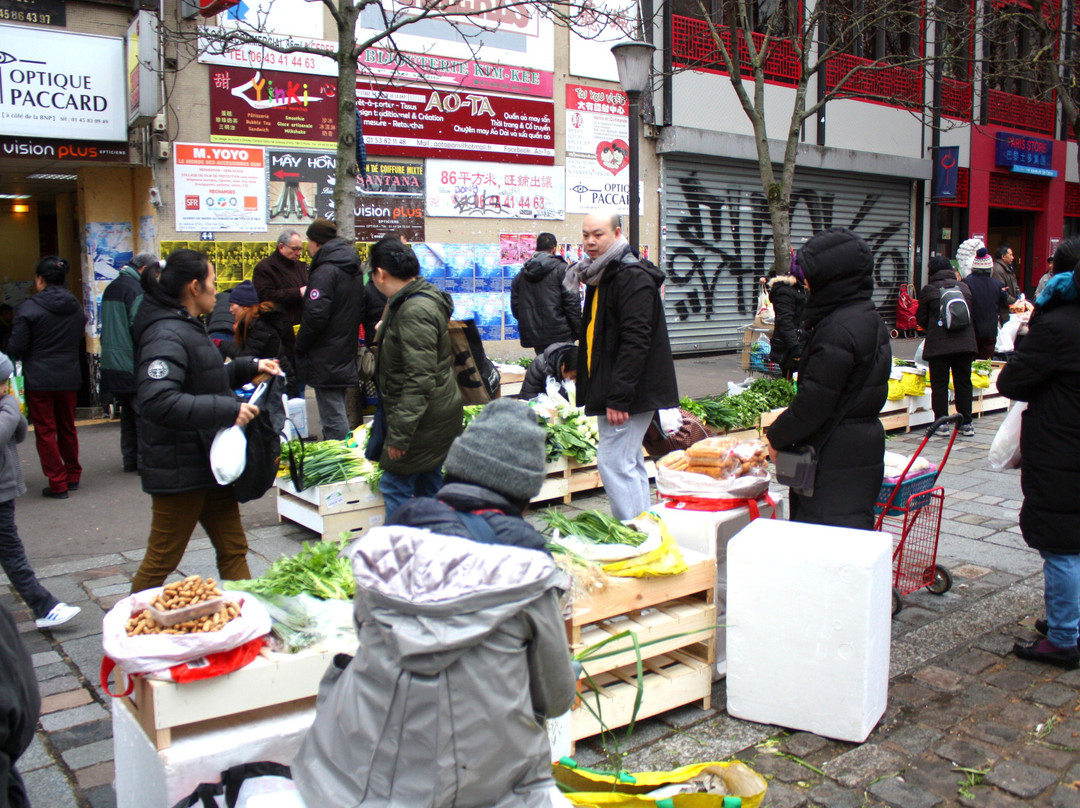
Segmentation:
<svg viewBox="0 0 1080 808">
<path fill-rule="evenodd" d="M 861 743 L 889 691 L 892 537 L 755 520 L 728 542 L 728 713 Z"/>
</svg>

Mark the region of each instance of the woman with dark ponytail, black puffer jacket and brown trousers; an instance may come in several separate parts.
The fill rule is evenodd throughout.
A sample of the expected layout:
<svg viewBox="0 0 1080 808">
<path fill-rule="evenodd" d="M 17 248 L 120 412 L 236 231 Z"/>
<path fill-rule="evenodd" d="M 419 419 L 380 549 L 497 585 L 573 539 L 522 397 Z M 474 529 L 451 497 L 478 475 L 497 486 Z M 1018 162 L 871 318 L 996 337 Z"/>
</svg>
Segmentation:
<svg viewBox="0 0 1080 808">
<path fill-rule="evenodd" d="M 233 390 L 259 374 L 280 374 L 272 359 L 222 364 L 199 320 L 215 302 L 214 265 L 177 250 L 143 273 L 146 295 L 135 318 L 143 490 L 153 500 L 146 556 L 132 592 L 160 587 L 184 556 L 198 522 L 217 552 L 225 580 L 249 578 L 247 537 L 232 486 L 218 485 L 210 447 L 222 427 L 243 426 L 258 407 Z"/>
</svg>

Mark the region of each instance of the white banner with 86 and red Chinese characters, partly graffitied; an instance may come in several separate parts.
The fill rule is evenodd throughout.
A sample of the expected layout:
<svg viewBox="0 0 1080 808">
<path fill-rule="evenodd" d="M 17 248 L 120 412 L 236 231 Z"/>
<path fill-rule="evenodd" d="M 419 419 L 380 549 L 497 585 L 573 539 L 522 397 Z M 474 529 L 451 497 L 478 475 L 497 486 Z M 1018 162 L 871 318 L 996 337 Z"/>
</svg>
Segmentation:
<svg viewBox="0 0 1080 808">
<path fill-rule="evenodd" d="M 429 160 L 427 169 L 428 216 L 566 218 L 561 165 Z"/>
</svg>

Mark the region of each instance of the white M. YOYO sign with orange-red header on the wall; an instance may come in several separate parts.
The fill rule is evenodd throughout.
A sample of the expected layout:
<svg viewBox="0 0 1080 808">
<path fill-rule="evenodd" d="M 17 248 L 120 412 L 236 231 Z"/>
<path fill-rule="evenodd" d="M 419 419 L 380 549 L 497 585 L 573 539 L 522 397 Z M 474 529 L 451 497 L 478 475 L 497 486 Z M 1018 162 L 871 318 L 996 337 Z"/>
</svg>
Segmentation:
<svg viewBox="0 0 1080 808">
<path fill-rule="evenodd" d="M 199 143 L 173 146 L 177 232 L 266 232 L 262 149 Z"/>
</svg>

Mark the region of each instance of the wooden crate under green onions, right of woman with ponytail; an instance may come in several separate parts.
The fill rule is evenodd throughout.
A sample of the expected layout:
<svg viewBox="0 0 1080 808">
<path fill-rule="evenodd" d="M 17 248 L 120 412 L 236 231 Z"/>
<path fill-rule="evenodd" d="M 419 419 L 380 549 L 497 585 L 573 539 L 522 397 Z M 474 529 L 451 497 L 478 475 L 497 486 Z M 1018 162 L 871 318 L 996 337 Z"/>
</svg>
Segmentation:
<svg viewBox="0 0 1080 808">
<path fill-rule="evenodd" d="M 338 541 L 342 534 L 354 539 L 386 519 L 382 496 L 362 480 L 328 483 L 302 491 L 284 477 L 278 488 L 278 521 L 287 519 L 321 534 L 324 541 Z"/>
</svg>

